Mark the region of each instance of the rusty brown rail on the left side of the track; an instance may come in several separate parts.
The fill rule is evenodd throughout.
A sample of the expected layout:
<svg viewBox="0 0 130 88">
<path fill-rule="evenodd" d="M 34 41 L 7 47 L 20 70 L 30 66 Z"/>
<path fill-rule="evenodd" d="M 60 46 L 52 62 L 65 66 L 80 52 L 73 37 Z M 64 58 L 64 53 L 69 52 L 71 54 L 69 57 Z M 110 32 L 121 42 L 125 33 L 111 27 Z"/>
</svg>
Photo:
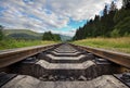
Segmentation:
<svg viewBox="0 0 130 88">
<path fill-rule="evenodd" d="M 50 46 L 36 46 L 36 47 L 28 47 L 28 48 L 20 48 L 20 49 L 12 49 L 0 52 L 0 68 L 9 66 L 13 63 L 22 61 L 28 56 L 35 55 L 41 51 L 50 49 L 57 45 L 50 45 Z"/>
</svg>

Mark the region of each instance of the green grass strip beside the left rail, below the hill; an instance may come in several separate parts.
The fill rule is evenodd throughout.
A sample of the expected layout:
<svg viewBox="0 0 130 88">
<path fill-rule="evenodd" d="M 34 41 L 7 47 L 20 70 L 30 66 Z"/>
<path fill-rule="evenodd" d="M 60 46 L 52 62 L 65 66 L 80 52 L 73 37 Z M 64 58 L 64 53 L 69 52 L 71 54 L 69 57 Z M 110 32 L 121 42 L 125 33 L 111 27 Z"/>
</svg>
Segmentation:
<svg viewBox="0 0 130 88">
<path fill-rule="evenodd" d="M 23 48 L 31 46 L 47 46 L 57 43 L 56 41 L 42 41 L 42 40 L 15 40 L 15 39 L 3 39 L 0 41 L 0 50 Z"/>
</svg>

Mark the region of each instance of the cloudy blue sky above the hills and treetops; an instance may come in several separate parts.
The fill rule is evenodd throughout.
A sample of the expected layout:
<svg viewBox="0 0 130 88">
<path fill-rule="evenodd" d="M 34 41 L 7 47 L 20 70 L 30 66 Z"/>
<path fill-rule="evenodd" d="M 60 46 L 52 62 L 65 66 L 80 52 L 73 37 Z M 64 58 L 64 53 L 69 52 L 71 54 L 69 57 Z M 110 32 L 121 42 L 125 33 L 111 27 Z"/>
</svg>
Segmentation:
<svg viewBox="0 0 130 88">
<path fill-rule="evenodd" d="M 0 0 L 0 25 L 74 36 L 113 0 Z M 121 0 L 114 0 L 121 7 Z"/>
</svg>

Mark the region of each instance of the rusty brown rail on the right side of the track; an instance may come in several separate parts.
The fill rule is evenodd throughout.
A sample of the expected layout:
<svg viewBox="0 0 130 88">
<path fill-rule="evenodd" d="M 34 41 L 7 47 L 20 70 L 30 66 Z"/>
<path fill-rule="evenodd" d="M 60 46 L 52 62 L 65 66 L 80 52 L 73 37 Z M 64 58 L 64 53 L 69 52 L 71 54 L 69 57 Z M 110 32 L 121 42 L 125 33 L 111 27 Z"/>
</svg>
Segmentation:
<svg viewBox="0 0 130 88">
<path fill-rule="evenodd" d="M 114 63 L 117 63 L 127 68 L 130 68 L 130 54 L 115 52 L 115 51 L 110 51 L 110 50 L 99 49 L 99 48 L 82 47 L 82 46 L 76 46 L 76 45 L 72 45 L 72 46 L 78 47 L 78 48 L 83 49 L 90 53 L 98 55 L 98 56 L 107 59 Z"/>
</svg>

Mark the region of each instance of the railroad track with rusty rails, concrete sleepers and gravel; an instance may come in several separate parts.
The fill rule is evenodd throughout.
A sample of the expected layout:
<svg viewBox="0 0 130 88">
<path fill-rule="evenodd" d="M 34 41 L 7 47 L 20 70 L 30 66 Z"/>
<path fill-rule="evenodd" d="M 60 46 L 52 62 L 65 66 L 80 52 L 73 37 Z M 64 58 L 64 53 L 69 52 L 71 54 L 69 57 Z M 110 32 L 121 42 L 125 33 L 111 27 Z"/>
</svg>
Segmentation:
<svg viewBox="0 0 130 88">
<path fill-rule="evenodd" d="M 31 47 L 0 53 L 0 86 L 129 88 L 129 54 L 70 43 Z"/>
</svg>

